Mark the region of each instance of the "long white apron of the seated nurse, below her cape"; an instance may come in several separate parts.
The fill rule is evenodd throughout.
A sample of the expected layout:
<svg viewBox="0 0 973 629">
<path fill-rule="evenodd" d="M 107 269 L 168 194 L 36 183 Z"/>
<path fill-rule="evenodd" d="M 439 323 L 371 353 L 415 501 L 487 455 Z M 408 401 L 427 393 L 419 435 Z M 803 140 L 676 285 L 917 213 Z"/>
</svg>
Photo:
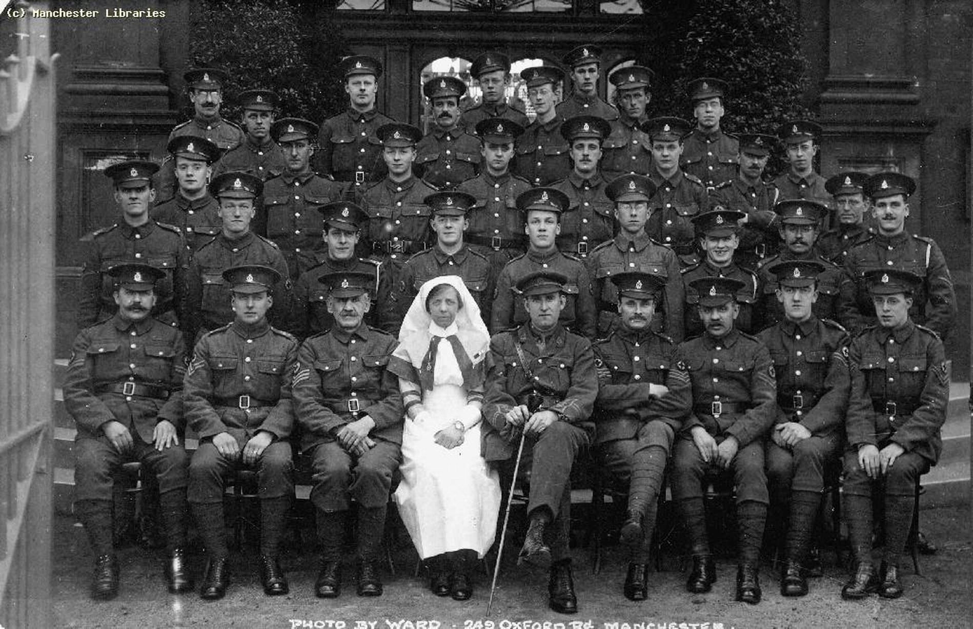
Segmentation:
<svg viewBox="0 0 973 629">
<path fill-rule="evenodd" d="M 425 391 L 422 405 L 432 416 L 431 425 L 407 418 L 403 430 L 402 482 L 395 491 L 399 515 L 422 559 L 464 548 L 482 558 L 496 536 L 500 483 L 480 456 L 480 425 L 447 450 L 434 436 L 456 421 L 466 393 L 440 385 Z"/>
</svg>

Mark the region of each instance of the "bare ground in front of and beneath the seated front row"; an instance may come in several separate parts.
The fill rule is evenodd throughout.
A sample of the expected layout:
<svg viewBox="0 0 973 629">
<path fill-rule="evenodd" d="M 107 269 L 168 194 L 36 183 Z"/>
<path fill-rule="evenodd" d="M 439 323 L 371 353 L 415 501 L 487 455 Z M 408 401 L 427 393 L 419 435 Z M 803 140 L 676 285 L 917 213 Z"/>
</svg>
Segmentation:
<svg viewBox="0 0 973 629">
<path fill-rule="evenodd" d="M 397 573 L 387 576 L 385 595 L 359 599 L 346 568 L 345 592 L 335 601 L 312 594 L 316 567 L 312 552 L 291 551 L 285 560 L 291 583 L 287 597 L 269 598 L 259 589 L 255 567 L 234 557 L 234 580 L 223 601 L 206 603 L 197 595 L 171 596 L 162 585 L 156 560 L 139 548 L 121 552 L 123 586 L 115 601 L 95 603 L 88 597 L 91 554 L 80 527 L 67 517 L 55 521 L 55 627 L 330 627 L 356 629 L 561 629 L 533 623 L 566 623 L 563 629 L 657 629 L 661 623 L 709 623 L 724 627 L 968 627 L 973 614 L 970 591 L 969 507 L 922 512 L 922 529 L 939 545 L 939 553 L 921 557 L 922 576 L 907 569 L 906 595 L 897 601 L 872 597 L 861 602 L 841 600 L 844 570 L 826 562 L 825 576 L 811 580 L 804 599 L 784 599 L 777 592 L 776 575 L 762 571 L 764 602 L 749 607 L 733 600 L 735 569 L 724 558 L 719 580 L 710 594 L 693 596 L 683 589 L 684 572 L 677 556 L 667 555 L 663 572 L 652 574 L 649 600 L 636 604 L 621 595 L 624 554 L 607 549 L 601 574 L 591 572 L 590 553 L 575 550 L 575 582 L 580 612 L 562 616 L 547 609 L 544 574 L 531 574 L 513 565 L 501 571 L 497 601 L 488 621 L 484 617 L 489 582 L 477 577 L 474 598 L 465 603 L 439 599 L 414 577 L 414 552 L 405 542 L 396 548 Z M 506 562 L 505 562 L 506 563 Z M 201 570 L 200 558 L 193 565 Z M 303 622 L 309 624 L 302 624 Z M 401 621 L 406 621 L 402 624 Z M 344 624 L 339 624 L 343 622 Z M 576 622 L 577 624 L 570 624 Z M 591 622 L 589 625 L 584 623 Z M 374 624 L 373 624 L 374 623 Z M 423 624 L 424 623 L 424 624 Z M 440 623 L 440 624 L 436 624 Z M 655 623 L 655 624 L 648 624 Z M 686 624 L 681 627 L 691 627 Z M 672 629 L 681 627 L 672 625 Z M 359 629 L 365 629 L 359 625 Z"/>
</svg>

